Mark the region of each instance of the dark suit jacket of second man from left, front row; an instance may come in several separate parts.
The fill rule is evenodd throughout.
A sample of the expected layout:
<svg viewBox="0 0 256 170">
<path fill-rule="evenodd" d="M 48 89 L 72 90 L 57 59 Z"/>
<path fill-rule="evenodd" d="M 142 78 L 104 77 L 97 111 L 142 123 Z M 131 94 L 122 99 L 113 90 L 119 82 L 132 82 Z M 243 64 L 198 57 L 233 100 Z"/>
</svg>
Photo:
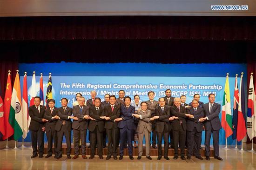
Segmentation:
<svg viewBox="0 0 256 170">
<path fill-rule="evenodd" d="M 45 109 L 44 119 L 48 121 L 45 123 L 45 132 L 50 132 L 51 130 L 55 131 L 55 125 L 57 123 L 57 119 L 52 119 L 55 115 L 58 115 L 58 110 L 56 107 L 53 109 L 53 113 L 51 113 L 50 107 Z"/>
</svg>

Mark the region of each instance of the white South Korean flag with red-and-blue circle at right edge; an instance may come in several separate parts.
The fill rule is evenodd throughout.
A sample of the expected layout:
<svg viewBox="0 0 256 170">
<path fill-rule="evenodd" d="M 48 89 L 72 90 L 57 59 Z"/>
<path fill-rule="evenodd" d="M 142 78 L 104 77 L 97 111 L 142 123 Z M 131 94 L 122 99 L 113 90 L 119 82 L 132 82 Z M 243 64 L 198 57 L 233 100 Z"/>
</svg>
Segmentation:
<svg viewBox="0 0 256 170">
<path fill-rule="evenodd" d="M 248 91 L 248 110 L 247 110 L 247 134 L 251 140 L 254 136 L 254 119 L 255 119 L 255 91 L 253 86 L 253 73 L 250 76 L 250 84 Z"/>
</svg>

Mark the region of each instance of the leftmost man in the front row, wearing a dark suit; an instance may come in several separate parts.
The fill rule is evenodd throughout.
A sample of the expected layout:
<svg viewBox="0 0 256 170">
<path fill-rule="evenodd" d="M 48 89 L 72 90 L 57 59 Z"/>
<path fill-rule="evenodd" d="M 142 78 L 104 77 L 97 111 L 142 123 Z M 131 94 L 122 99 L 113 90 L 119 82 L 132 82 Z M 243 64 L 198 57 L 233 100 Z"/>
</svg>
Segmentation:
<svg viewBox="0 0 256 170">
<path fill-rule="evenodd" d="M 34 97 L 34 105 L 28 108 L 28 113 L 31 118 L 29 130 L 31 133 L 31 143 L 33 148 L 33 154 L 31 158 L 37 157 L 37 142 L 39 148 L 39 157 L 43 157 L 44 154 L 44 123 L 48 120 L 44 119 L 45 107 L 40 105 L 40 97 Z"/>
</svg>

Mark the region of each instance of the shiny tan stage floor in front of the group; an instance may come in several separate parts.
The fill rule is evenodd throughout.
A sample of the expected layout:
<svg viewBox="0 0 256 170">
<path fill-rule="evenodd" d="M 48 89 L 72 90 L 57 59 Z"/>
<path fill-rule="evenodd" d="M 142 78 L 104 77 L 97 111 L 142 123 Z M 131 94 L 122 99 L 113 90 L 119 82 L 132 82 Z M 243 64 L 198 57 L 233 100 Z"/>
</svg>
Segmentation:
<svg viewBox="0 0 256 170">
<path fill-rule="evenodd" d="M 4 148 L 5 144 L 6 142 L 0 142 L 0 148 Z M 13 141 L 9 141 L 9 146 L 14 147 Z M 243 146 L 245 150 L 251 149 L 251 145 Z M 234 146 L 230 146 L 232 147 Z M 0 170 L 256 170 L 256 153 L 240 152 L 234 149 L 224 150 L 223 146 L 220 148 L 223 161 L 213 157 L 210 161 L 195 157 L 190 160 L 180 158 L 174 160 L 173 157 L 169 157 L 169 161 L 165 159 L 158 161 L 156 156 L 152 157 L 153 160 L 145 157 L 137 160 L 136 156 L 134 160 L 125 156 L 121 161 L 113 158 L 101 160 L 97 156 L 92 160 L 81 157 L 73 160 L 67 159 L 65 155 L 58 160 L 54 157 L 31 159 L 31 147 L 19 150 L 0 149 Z"/>
</svg>

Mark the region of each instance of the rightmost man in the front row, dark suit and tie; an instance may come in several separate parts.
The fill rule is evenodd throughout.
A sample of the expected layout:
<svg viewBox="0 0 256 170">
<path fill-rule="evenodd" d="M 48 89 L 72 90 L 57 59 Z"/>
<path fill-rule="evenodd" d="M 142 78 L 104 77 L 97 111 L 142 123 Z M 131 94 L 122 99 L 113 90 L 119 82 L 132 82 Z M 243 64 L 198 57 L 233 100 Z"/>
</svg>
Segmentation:
<svg viewBox="0 0 256 170">
<path fill-rule="evenodd" d="M 205 156 L 206 160 L 210 160 L 210 139 L 211 134 L 213 134 L 213 149 L 216 159 L 221 160 L 219 153 L 219 131 L 222 128 L 221 121 L 219 118 L 219 113 L 221 111 L 221 105 L 215 103 L 215 94 L 209 94 L 209 103 L 203 105 L 204 118 L 201 118 L 200 121 L 204 122 L 205 128 Z"/>
</svg>

